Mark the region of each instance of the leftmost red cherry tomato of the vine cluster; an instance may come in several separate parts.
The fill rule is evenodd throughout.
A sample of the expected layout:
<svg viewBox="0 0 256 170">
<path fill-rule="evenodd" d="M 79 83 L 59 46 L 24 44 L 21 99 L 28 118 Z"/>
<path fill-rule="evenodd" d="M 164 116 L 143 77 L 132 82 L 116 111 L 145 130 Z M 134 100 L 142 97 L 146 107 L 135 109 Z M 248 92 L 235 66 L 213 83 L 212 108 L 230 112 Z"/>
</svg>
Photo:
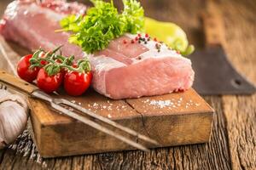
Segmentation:
<svg viewBox="0 0 256 170">
<path fill-rule="evenodd" d="M 32 54 L 28 54 L 22 57 L 17 65 L 17 73 L 20 78 L 25 80 L 26 82 L 33 82 L 38 76 L 38 67 L 34 67 L 30 69 L 31 66 L 29 59 L 32 58 Z"/>
</svg>

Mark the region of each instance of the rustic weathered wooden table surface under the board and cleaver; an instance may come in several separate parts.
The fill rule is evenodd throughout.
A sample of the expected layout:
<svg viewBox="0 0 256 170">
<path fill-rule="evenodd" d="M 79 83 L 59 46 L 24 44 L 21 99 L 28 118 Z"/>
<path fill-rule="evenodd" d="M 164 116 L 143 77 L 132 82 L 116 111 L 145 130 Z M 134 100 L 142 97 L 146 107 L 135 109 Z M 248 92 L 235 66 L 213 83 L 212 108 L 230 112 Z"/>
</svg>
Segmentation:
<svg viewBox="0 0 256 170">
<path fill-rule="evenodd" d="M 7 0 L 0 2 L 0 14 Z M 203 45 L 199 15 L 204 1 L 143 1 L 146 14 L 176 22 L 197 48 Z M 222 0 L 226 53 L 237 70 L 256 84 L 256 2 Z M 0 68 L 7 69 L 0 59 Z M 221 86 L 221 83 L 220 83 Z M 25 131 L 8 149 L 0 150 L 0 169 L 255 169 L 256 94 L 252 96 L 207 96 L 216 111 L 208 144 L 152 150 L 125 151 L 88 156 L 42 159 Z"/>
</svg>

